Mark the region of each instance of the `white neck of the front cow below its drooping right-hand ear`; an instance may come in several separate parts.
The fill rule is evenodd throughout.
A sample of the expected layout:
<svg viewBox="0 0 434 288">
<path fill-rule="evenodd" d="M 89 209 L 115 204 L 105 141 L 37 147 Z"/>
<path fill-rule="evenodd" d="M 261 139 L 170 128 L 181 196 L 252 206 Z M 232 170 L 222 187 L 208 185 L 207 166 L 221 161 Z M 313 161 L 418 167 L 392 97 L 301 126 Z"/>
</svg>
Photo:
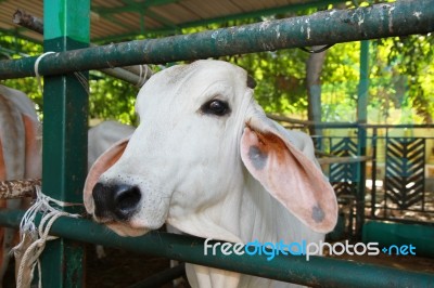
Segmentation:
<svg viewBox="0 0 434 288">
<path fill-rule="evenodd" d="M 168 223 L 183 233 L 232 243 L 321 239 L 278 202 L 248 172 L 221 202 Z"/>
</svg>

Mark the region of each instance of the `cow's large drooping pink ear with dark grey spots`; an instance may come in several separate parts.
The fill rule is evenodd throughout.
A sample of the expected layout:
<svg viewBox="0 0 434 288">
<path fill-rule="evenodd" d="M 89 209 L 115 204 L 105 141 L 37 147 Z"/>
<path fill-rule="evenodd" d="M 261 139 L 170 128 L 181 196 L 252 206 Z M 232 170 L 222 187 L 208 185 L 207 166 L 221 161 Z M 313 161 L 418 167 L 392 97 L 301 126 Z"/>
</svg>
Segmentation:
<svg viewBox="0 0 434 288">
<path fill-rule="evenodd" d="M 301 133 L 294 133 L 293 140 L 291 135 L 265 116 L 251 118 L 241 139 L 241 158 L 250 173 L 297 219 L 316 232 L 330 232 L 337 220 L 334 191 L 315 156 L 304 154 L 314 152 L 311 140 Z M 310 146 L 301 147 L 306 145 Z"/>
</svg>

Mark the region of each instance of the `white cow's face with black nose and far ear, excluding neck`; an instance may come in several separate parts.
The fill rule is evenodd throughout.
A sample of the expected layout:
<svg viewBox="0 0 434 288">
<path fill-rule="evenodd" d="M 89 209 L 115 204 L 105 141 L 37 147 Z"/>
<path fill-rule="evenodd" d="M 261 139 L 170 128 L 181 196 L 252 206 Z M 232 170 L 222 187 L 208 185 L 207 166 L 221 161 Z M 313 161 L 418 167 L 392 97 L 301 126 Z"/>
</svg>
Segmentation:
<svg viewBox="0 0 434 288">
<path fill-rule="evenodd" d="M 226 62 L 199 61 L 153 76 L 137 99 L 140 126 L 90 171 L 88 212 L 135 236 L 221 201 L 241 185 L 238 147 L 252 94 L 246 73 Z"/>
</svg>

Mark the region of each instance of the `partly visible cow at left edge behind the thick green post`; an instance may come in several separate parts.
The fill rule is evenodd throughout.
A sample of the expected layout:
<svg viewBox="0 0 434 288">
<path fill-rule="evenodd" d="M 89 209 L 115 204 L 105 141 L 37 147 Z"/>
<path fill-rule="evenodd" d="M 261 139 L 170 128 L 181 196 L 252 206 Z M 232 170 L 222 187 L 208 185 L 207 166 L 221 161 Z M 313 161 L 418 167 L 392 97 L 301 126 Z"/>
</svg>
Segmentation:
<svg viewBox="0 0 434 288">
<path fill-rule="evenodd" d="M 0 180 L 41 176 L 41 139 L 34 103 L 21 91 L 0 86 Z M 28 200 L 8 200 L 2 206 L 17 209 Z M 15 230 L 4 228 L 0 285 L 9 265 Z"/>
</svg>

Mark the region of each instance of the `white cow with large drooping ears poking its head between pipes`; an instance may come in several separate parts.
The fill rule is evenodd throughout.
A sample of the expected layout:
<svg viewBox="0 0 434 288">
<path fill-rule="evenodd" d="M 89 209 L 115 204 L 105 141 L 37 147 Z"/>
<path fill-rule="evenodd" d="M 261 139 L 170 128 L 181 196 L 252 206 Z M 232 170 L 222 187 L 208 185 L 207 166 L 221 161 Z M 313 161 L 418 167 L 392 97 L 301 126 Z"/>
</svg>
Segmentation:
<svg viewBox="0 0 434 288">
<path fill-rule="evenodd" d="M 309 243 L 334 227 L 335 195 L 310 139 L 265 116 L 244 69 L 173 66 L 143 86 L 136 110 L 140 126 L 97 160 L 84 191 L 87 211 L 117 234 L 167 222 L 232 243 Z M 187 274 L 193 287 L 289 285 L 192 264 Z"/>
</svg>

